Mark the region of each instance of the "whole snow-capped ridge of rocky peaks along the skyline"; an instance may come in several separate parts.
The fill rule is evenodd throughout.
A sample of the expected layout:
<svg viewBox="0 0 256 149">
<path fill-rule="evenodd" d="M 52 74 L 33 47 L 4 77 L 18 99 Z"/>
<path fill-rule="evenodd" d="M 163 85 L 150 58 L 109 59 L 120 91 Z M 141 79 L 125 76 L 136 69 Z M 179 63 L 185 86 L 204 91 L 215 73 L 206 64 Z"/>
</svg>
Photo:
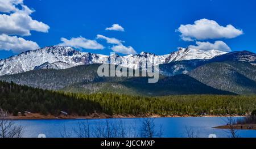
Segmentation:
<svg viewBox="0 0 256 149">
<path fill-rule="evenodd" d="M 104 56 L 102 54 L 80 52 L 68 46 L 47 46 L 46 48 L 30 50 L 17 56 L 0 60 L 0 76 L 23 73 L 35 69 L 67 69 L 79 65 L 110 62 L 115 65 L 138 69 L 144 66 L 143 62 L 146 59 L 152 65 L 160 65 L 189 59 L 210 59 L 222 54 L 226 53 L 218 50 L 203 51 L 180 48 L 177 52 L 163 56 L 146 52 L 128 56 L 118 56 L 118 54 Z M 110 61 L 110 59 L 115 61 Z"/>
</svg>

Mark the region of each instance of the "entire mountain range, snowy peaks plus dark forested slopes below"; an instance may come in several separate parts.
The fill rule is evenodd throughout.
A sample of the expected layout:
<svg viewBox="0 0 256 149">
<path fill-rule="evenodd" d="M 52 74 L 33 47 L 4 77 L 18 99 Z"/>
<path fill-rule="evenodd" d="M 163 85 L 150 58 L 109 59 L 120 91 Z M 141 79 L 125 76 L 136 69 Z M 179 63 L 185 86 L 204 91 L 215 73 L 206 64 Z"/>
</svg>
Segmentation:
<svg viewBox="0 0 256 149">
<path fill-rule="evenodd" d="M 114 56 L 114 55 L 113 55 Z M 70 47 L 48 46 L 0 61 L 0 80 L 47 90 L 130 95 L 250 95 L 256 94 L 256 54 L 179 48 L 164 56 L 142 52 L 118 56 L 84 53 Z M 147 77 L 99 77 L 101 63 L 145 69 L 140 60 L 152 58 L 159 65 L 158 83 Z M 125 63 L 124 63 L 125 62 Z M 134 63 L 135 62 L 135 63 Z M 136 63 L 137 62 L 137 63 Z"/>
</svg>

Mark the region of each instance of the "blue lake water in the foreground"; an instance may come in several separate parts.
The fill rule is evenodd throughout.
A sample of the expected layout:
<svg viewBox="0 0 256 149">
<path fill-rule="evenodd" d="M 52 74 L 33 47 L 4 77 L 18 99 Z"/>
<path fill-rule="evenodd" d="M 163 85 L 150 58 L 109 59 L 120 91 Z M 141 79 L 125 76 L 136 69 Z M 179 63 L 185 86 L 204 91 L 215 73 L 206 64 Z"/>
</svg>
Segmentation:
<svg viewBox="0 0 256 149">
<path fill-rule="evenodd" d="M 97 125 L 104 125 L 106 121 L 109 124 L 121 124 L 126 130 L 139 135 L 142 126 L 142 118 L 112 118 L 112 119 L 93 119 L 93 120 L 15 120 L 16 124 L 24 127 L 23 137 L 34 138 L 38 134 L 45 134 L 48 138 L 63 137 L 63 132 L 68 137 L 77 137 L 74 130 L 77 129 L 79 122 L 89 122 L 90 130 Z M 229 137 L 229 133 L 222 129 L 214 129 L 214 126 L 225 125 L 225 118 L 221 117 L 184 117 L 184 118 L 154 118 L 155 130 L 158 131 L 160 126 L 163 128 L 162 137 L 181 138 L 187 137 L 186 127 L 201 138 L 206 138 L 209 134 L 216 134 L 217 137 Z M 118 126 L 119 127 L 119 126 Z M 62 133 L 61 133 L 62 132 Z M 134 133 L 126 133 L 128 137 L 133 137 Z M 91 132 L 94 133 L 94 132 Z M 61 135 L 62 134 L 62 135 Z M 239 130 L 238 135 L 243 138 L 256 138 L 255 130 Z"/>
</svg>

